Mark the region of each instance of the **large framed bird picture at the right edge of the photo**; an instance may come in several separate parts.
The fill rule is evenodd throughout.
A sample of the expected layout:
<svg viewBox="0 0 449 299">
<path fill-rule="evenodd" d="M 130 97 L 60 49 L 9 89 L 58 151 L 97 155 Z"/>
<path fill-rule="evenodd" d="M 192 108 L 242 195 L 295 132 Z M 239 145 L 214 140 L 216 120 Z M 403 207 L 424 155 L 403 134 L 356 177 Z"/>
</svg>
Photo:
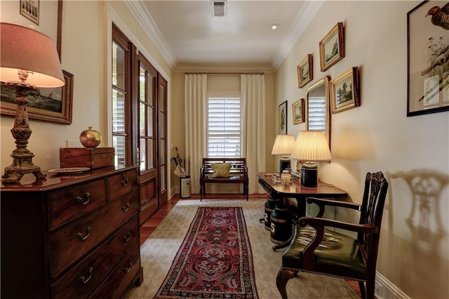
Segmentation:
<svg viewBox="0 0 449 299">
<path fill-rule="evenodd" d="M 424 1 L 407 13 L 407 117 L 449 110 L 449 30 L 437 18 L 448 6 Z"/>
</svg>

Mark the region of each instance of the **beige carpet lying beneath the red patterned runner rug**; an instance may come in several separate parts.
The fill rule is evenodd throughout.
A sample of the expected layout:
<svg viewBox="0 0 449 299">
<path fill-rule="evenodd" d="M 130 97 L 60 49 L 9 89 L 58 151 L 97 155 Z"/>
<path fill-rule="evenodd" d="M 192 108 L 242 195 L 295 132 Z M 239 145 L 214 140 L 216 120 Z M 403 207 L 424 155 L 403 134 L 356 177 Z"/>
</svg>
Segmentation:
<svg viewBox="0 0 449 299">
<path fill-rule="evenodd" d="M 153 298 L 166 277 L 198 206 L 242 206 L 253 251 L 255 284 L 260 299 L 281 298 L 276 288 L 276 274 L 281 266 L 282 250 L 273 251 L 269 231 L 259 222 L 264 214 L 264 199 L 182 200 L 163 219 L 142 244 L 141 258 L 144 281 L 131 287 L 123 298 Z M 342 279 L 300 273 L 287 284 L 288 298 L 358 298 Z"/>
</svg>

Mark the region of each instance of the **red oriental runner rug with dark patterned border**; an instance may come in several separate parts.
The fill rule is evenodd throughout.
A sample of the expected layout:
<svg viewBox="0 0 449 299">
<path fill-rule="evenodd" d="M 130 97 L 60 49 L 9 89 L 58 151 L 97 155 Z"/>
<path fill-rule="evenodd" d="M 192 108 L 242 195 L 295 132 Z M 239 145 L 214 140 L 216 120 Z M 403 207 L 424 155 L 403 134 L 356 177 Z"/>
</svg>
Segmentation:
<svg viewBox="0 0 449 299">
<path fill-rule="evenodd" d="M 198 208 L 154 298 L 257 298 L 241 207 Z"/>
</svg>

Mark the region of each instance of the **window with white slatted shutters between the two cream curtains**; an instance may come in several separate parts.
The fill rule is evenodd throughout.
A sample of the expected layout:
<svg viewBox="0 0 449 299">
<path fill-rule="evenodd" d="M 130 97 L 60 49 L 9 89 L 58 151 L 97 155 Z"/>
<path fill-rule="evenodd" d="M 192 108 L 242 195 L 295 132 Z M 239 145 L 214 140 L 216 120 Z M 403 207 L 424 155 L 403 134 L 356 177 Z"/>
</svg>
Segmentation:
<svg viewBox="0 0 449 299">
<path fill-rule="evenodd" d="M 241 157 L 240 98 L 208 98 L 208 157 Z"/>
</svg>

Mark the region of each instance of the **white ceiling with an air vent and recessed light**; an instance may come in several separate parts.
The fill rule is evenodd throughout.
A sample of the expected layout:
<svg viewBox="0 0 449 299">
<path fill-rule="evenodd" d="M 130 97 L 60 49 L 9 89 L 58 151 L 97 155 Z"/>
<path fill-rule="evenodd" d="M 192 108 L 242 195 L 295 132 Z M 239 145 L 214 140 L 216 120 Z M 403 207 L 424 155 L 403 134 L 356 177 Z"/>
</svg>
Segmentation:
<svg viewBox="0 0 449 299">
<path fill-rule="evenodd" d="M 227 0 L 227 15 L 213 2 L 126 1 L 173 69 L 279 67 L 321 6 L 321 1 Z M 273 24 L 278 29 L 272 30 Z"/>
</svg>

